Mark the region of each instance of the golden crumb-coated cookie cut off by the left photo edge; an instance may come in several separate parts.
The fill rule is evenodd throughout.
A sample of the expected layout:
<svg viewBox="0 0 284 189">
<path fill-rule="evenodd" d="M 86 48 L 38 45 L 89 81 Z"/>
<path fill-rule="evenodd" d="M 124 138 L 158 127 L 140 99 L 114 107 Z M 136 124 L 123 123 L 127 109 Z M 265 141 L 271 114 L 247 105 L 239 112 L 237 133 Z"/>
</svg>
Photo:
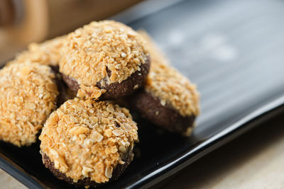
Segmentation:
<svg viewBox="0 0 284 189">
<path fill-rule="evenodd" d="M 0 70 L 0 139 L 21 147 L 36 134 L 56 108 L 58 87 L 50 67 L 11 64 Z"/>
</svg>

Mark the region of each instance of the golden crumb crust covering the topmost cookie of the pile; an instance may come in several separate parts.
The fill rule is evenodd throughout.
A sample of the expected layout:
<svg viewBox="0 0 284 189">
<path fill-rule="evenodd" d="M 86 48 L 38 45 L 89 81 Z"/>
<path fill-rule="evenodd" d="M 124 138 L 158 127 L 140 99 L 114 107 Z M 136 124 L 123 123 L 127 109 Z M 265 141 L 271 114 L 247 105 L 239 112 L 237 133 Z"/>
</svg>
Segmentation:
<svg viewBox="0 0 284 189">
<path fill-rule="evenodd" d="M 121 83 L 148 59 L 141 35 L 115 21 L 92 22 L 67 36 L 60 72 L 80 88 Z M 109 72 L 109 74 L 108 74 Z"/>
</svg>

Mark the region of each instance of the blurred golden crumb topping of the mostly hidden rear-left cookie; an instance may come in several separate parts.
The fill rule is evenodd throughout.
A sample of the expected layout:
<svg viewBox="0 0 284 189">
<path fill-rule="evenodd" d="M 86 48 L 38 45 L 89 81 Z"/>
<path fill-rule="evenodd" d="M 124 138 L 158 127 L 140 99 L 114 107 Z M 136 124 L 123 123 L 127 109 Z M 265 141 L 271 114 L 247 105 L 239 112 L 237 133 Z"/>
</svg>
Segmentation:
<svg viewBox="0 0 284 189">
<path fill-rule="evenodd" d="M 8 64 L 28 61 L 56 67 L 62 57 L 62 47 L 65 39 L 66 36 L 63 35 L 43 43 L 33 42 L 28 45 L 28 50 L 19 53 L 15 60 Z"/>
</svg>

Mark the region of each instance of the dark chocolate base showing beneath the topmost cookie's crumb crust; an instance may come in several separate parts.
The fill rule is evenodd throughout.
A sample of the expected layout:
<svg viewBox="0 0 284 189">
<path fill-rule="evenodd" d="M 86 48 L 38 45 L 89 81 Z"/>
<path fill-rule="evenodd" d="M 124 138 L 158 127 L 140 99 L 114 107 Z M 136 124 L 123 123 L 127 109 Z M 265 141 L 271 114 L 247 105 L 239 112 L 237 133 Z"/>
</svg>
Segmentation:
<svg viewBox="0 0 284 189">
<path fill-rule="evenodd" d="M 116 100 L 124 96 L 129 96 L 138 88 L 141 88 L 146 81 L 146 77 L 150 69 L 150 62 L 150 57 L 148 57 L 145 64 L 141 64 L 139 71 L 135 71 L 128 79 L 121 81 L 121 83 L 116 82 L 107 86 L 102 86 L 99 82 L 97 82 L 97 87 L 107 90 L 99 97 L 99 100 Z M 110 76 L 111 72 L 107 72 Z M 62 78 L 72 91 L 79 90 L 80 85 L 74 78 L 66 76 L 65 74 L 62 74 Z"/>
</svg>

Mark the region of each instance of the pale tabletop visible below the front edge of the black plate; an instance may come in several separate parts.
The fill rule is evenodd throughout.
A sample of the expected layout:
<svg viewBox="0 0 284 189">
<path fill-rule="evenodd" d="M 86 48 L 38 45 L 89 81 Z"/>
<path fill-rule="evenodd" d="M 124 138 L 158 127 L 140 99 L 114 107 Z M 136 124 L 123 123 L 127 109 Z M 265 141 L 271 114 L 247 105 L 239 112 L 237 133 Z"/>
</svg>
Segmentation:
<svg viewBox="0 0 284 189">
<path fill-rule="evenodd" d="M 284 188 L 283 147 L 284 116 L 279 116 L 154 188 Z M 0 188 L 25 188 L 1 170 L 0 183 Z"/>
</svg>

